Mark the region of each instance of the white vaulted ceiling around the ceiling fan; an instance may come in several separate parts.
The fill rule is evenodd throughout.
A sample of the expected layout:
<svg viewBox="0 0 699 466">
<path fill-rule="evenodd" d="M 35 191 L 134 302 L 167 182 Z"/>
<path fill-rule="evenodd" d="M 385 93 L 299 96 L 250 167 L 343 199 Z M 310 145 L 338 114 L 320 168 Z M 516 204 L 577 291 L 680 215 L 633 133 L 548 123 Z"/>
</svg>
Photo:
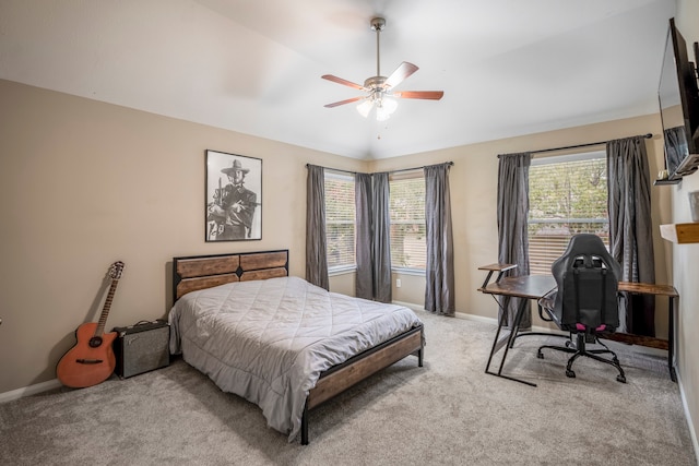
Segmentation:
<svg viewBox="0 0 699 466">
<path fill-rule="evenodd" d="M 1 0 L 0 79 L 376 159 L 657 111 L 674 0 Z M 357 95 L 419 70 L 384 122 Z M 7 111 L 7 109 L 3 109 Z"/>
</svg>

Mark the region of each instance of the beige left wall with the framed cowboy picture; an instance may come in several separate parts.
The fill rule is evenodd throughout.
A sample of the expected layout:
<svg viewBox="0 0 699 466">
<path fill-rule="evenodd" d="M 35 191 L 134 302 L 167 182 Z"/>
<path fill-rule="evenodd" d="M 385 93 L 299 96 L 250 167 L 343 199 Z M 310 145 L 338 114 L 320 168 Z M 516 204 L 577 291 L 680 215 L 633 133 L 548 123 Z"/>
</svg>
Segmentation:
<svg viewBox="0 0 699 466">
<path fill-rule="evenodd" d="M 305 274 L 307 163 L 366 163 L 0 81 L 0 394 L 55 379 L 126 263 L 107 330 L 166 315 L 176 255 L 289 249 Z M 204 151 L 262 158 L 260 241 L 204 242 Z"/>
</svg>

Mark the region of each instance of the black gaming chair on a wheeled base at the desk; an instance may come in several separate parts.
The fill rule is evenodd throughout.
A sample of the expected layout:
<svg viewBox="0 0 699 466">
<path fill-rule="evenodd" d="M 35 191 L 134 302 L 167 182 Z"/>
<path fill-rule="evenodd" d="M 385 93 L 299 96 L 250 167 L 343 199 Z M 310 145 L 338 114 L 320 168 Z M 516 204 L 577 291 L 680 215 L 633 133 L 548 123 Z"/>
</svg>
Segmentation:
<svg viewBox="0 0 699 466">
<path fill-rule="evenodd" d="M 540 313 L 544 320 L 553 321 L 560 330 L 569 332 L 569 339 L 565 347 L 540 347 L 537 357 L 544 358 L 544 348 L 571 353 L 566 375 L 574 378 L 572 363 L 585 356 L 614 366 L 619 371 L 616 380 L 626 383 L 619 359 L 599 337 L 619 326 L 617 290 L 621 267 L 618 262 L 607 252 L 599 236 L 584 234 L 571 238 L 568 249 L 550 270 L 558 287 L 538 301 Z M 543 315 L 542 310 L 549 319 Z M 573 334 L 577 335 L 576 342 Z M 588 349 L 587 344 L 599 344 L 604 349 Z M 599 356 L 601 354 L 611 354 L 612 359 Z"/>
</svg>

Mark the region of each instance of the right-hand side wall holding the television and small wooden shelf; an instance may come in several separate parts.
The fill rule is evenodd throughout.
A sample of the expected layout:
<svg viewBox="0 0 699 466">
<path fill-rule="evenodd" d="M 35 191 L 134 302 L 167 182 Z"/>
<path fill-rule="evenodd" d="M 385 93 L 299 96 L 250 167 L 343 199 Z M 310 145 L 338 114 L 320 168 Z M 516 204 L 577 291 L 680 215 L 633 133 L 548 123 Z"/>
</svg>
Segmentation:
<svg viewBox="0 0 699 466">
<path fill-rule="evenodd" d="M 687 46 L 699 41 L 699 0 L 678 0 L 675 16 L 677 28 L 685 37 Z M 694 53 L 689 50 L 690 60 Z M 671 188 L 672 223 L 691 222 L 687 193 L 699 190 L 699 175 L 694 174 L 683 179 L 682 183 Z M 697 442 L 699 432 L 699 244 L 674 244 L 673 283 L 679 292 L 679 340 L 677 349 L 678 374 L 684 397 L 690 415 L 691 428 Z M 699 445 L 695 443 L 695 451 Z"/>
</svg>

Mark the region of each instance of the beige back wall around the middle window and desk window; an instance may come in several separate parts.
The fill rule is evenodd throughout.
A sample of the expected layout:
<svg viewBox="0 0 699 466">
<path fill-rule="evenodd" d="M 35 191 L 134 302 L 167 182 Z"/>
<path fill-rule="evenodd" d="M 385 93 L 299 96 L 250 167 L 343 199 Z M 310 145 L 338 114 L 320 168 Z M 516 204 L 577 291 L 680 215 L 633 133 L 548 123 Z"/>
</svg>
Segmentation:
<svg viewBox="0 0 699 466">
<path fill-rule="evenodd" d="M 452 203 L 452 223 L 454 239 L 454 275 L 457 283 L 455 307 L 458 312 L 495 318 L 497 304 L 489 296 L 476 292 L 483 284 L 485 273 L 479 265 L 497 262 L 497 174 L 498 154 L 535 151 L 547 147 L 561 147 L 596 141 L 653 133 L 647 140 L 651 176 L 662 168 L 663 150 L 660 116 L 652 115 L 602 124 L 591 124 L 561 131 L 530 134 L 508 140 L 491 141 L 482 144 L 461 146 L 434 153 L 410 155 L 392 159 L 376 160 L 372 171 L 391 170 L 400 167 L 422 166 L 452 160 L 449 181 Z M 601 146 L 604 148 L 604 146 Z M 600 147 L 592 147 L 600 148 Z M 552 153 L 558 155 L 560 153 Z M 670 194 L 665 187 L 651 190 L 653 224 L 670 222 Z M 667 283 L 668 263 L 666 255 L 670 246 L 654 231 L 655 276 L 657 283 Z M 411 287 L 395 288 L 395 278 L 410 282 Z M 415 283 L 416 277 L 394 276 L 393 299 L 404 302 L 424 303 L 424 294 L 414 301 L 415 289 L 424 289 L 424 279 Z M 667 306 L 659 300 L 656 313 L 657 334 L 667 333 Z M 544 325 L 541 321 L 535 324 Z"/>
</svg>

